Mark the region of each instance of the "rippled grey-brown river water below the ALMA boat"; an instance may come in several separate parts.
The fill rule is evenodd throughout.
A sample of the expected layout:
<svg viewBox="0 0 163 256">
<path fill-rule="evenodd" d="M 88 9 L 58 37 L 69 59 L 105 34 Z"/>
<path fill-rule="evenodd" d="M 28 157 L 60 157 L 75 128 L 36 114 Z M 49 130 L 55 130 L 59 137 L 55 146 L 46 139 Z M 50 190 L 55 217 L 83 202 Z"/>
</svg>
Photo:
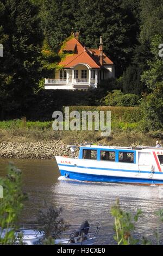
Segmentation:
<svg viewBox="0 0 163 256">
<path fill-rule="evenodd" d="M 0 160 L 0 177 L 6 174 L 8 162 Z M 23 173 L 23 191 L 28 193 L 20 222 L 36 222 L 37 212 L 47 205 L 61 206 L 62 217 L 70 224 L 84 220 L 100 222 L 97 245 L 114 244 L 111 205 L 120 199 L 124 210 L 135 214 L 141 208 L 143 215 L 136 223 L 135 235 L 148 237 L 153 243 L 157 217 L 154 211 L 163 208 L 163 186 L 139 186 L 60 180 L 55 160 L 12 160 Z M 46 202 L 46 204 L 45 204 Z M 163 233 L 163 228 L 160 230 Z"/>
</svg>

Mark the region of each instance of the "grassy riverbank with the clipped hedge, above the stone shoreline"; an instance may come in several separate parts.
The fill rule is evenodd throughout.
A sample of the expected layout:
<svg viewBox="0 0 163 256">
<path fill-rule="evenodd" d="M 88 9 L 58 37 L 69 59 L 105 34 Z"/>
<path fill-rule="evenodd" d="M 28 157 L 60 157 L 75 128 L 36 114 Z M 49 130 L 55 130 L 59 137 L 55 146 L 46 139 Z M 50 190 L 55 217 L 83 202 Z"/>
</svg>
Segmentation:
<svg viewBox="0 0 163 256">
<path fill-rule="evenodd" d="M 64 112 L 64 108 L 62 109 Z M 53 131 L 52 121 L 28 121 L 26 118 L 0 121 L 0 142 L 51 141 L 62 139 L 66 144 L 96 142 L 106 145 L 155 145 L 156 138 L 140 129 L 139 107 L 70 106 L 69 111 L 111 111 L 111 135 L 101 131 Z M 80 118 L 82 122 L 82 118 Z M 80 126 L 82 127 L 82 126 Z M 81 128 L 82 129 L 82 128 Z"/>
</svg>

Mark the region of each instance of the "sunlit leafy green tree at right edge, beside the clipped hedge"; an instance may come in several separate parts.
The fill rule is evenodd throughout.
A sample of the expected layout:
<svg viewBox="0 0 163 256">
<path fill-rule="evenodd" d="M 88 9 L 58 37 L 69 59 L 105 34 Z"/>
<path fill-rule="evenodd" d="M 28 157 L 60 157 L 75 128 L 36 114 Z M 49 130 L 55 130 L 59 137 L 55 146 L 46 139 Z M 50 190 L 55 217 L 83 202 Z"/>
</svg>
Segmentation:
<svg viewBox="0 0 163 256">
<path fill-rule="evenodd" d="M 148 61 L 149 70 L 143 72 L 142 82 L 151 90 L 146 100 L 142 100 L 141 106 L 144 113 L 143 129 L 156 131 L 163 129 L 163 58 L 158 55 L 159 44 L 163 37 L 156 35 L 152 40 L 153 59 Z"/>
</svg>

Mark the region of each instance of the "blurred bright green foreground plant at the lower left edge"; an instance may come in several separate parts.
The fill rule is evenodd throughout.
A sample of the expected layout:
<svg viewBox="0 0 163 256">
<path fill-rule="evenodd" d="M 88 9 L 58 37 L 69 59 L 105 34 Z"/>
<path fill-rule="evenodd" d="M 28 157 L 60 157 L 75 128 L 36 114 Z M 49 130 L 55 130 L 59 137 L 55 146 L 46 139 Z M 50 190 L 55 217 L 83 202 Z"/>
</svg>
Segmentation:
<svg viewBox="0 0 163 256">
<path fill-rule="evenodd" d="M 0 179 L 3 187 L 3 198 L 0 198 L 0 227 L 1 231 L 7 229 L 5 236 L 0 232 L 0 245 L 12 245 L 17 240 L 14 232 L 23 208 L 22 202 L 26 199 L 22 192 L 21 174 L 21 170 L 10 163 L 7 177 Z"/>
</svg>

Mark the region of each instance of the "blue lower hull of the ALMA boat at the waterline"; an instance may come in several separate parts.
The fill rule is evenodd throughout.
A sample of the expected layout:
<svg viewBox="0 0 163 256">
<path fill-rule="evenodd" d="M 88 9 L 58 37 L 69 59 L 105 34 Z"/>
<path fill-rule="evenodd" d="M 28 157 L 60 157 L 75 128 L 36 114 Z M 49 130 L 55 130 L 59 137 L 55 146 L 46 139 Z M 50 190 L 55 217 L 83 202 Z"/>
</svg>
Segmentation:
<svg viewBox="0 0 163 256">
<path fill-rule="evenodd" d="M 129 183 L 129 184 L 140 184 L 140 185 L 163 185 L 163 180 L 156 179 L 145 179 L 145 178 L 130 178 L 123 176 L 104 176 L 96 174 L 87 174 L 87 173 L 76 173 L 68 172 L 67 170 L 60 169 L 62 176 L 65 176 L 67 179 L 75 179 L 81 181 L 92 181 L 92 182 L 114 182 L 114 183 Z"/>
</svg>

